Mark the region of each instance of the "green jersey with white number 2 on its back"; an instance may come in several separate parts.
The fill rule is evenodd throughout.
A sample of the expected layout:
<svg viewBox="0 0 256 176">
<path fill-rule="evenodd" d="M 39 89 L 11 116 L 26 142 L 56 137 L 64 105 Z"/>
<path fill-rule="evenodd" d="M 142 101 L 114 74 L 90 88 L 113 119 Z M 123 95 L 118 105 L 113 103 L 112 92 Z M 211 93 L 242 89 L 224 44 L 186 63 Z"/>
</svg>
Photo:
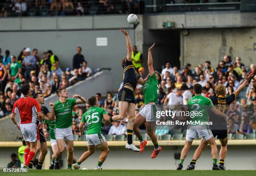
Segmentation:
<svg viewBox="0 0 256 176">
<path fill-rule="evenodd" d="M 214 108 L 210 98 L 201 95 L 195 95 L 188 101 L 190 111 L 190 121 L 208 121 L 208 108 Z"/>
</svg>

